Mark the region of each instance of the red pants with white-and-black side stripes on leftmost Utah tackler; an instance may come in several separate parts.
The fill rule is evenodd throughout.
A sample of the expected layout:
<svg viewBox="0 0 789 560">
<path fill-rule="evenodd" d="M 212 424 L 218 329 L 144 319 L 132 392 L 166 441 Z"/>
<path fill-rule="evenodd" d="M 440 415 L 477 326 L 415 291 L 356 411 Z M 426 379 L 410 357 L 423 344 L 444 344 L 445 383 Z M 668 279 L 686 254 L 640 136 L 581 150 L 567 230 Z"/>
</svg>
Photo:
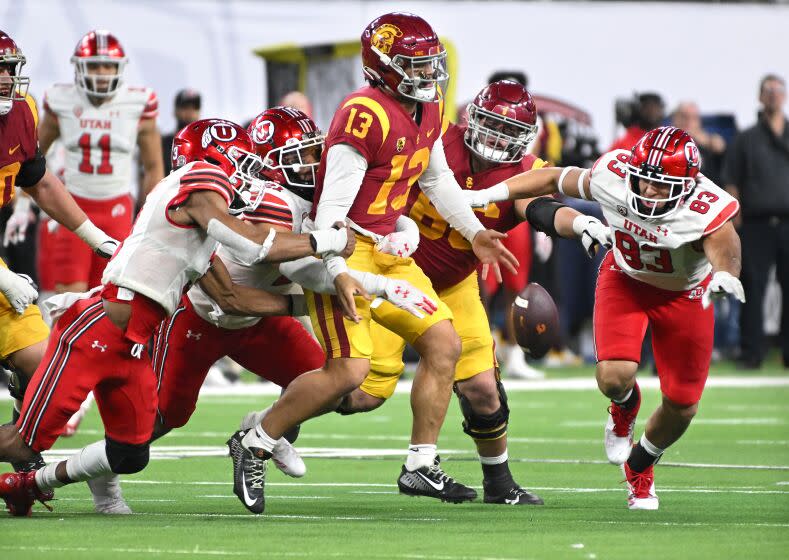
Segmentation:
<svg viewBox="0 0 789 560">
<path fill-rule="evenodd" d="M 34 451 L 52 447 L 90 391 L 106 435 L 140 445 L 156 420 L 156 378 L 144 349 L 132 351 L 104 313 L 100 296 L 72 305 L 57 321 L 46 353 L 25 392 L 16 423 Z M 142 351 L 139 351 L 142 350 Z"/>
</svg>

